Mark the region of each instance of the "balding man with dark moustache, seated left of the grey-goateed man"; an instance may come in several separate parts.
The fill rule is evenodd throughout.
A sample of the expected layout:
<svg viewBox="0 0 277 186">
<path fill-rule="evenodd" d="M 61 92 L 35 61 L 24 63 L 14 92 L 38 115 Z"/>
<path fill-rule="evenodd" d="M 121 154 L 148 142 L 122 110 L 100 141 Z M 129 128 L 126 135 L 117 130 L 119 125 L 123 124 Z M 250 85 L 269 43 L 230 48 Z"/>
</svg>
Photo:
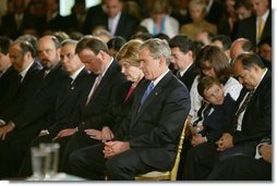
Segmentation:
<svg viewBox="0 0 277 186">
<path fill-rule="evenodd" d="M 16 74 L 12 76 L 12 79 L 10 80 L 10 87 L 7 89 L 7 96 L 4 97 L 4 108 L 1 112 L 1 121 L 2 121 L 2 127 L 0 128 L 1 134 L 1 156 L 7 156 L 10 153 L 10 156 L 17 156 L 12 154 L 12 145 L 16 144 L 14 141 L 14 138 L 10 138 L 5 140 L 5 137 L 9 138 L 10 136 L 8 133 L 5 133 L 7 128 L 9 128 L 9 124 L 7 124 L 13 116 L 15 116 L 19 112 L 22 110 L 25 110 L 29 101 L 32 101 L 35 97 L 35 92 L 37 90 L 37 87 L 39 85 L 39 72 L 41 70 L 41 66 L 38 65 L 38 63 L 34 62 L 35 58 L 35 49 L 33 46 L 24 40 L 16 40 L 10 46 L 9 55 L 11 59 L 11 63 L 16 70 Z M 8 136 L 5 136 L 8 135 Z M 24 140 L 24 139 L 22 139 Z M 14 144 L 13 144 L 14 142 Z M 10 147 L 11 146 L 11 147 Z M 16 147 L 20 151 L 22 147 Z M 9 158 L 8 158 L 9 159 Z M 5 166 L 4 163 L 7 161 L 7 157 L 1 157 L 1 169 L 0 169 L 0 177 L 14 175 L 15 172 L 12 172 L 12 169 L 15 169 L 16 166 L 14 164 L 9 164 L 12 169 L 9 166 Z M 17 160 L 15 159 L 15 162 Z M 9 162 L 10 163 L 10 162 Z M 14 166 L 13 166 L 14 165 Z M 2 169 L 5 169 L 3 172 Z M 14 170 L 13 170 L 14 171 Z"/>
</svg>

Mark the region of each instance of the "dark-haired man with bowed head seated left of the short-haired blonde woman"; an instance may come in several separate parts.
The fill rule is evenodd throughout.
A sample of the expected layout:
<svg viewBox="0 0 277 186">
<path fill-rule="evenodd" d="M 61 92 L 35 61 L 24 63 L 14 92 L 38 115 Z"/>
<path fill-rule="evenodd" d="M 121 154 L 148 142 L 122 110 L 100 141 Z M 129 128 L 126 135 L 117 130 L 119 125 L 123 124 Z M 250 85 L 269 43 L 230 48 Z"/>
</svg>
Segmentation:
<svg viewBox="0 0 277 186">
<path fill-rule="evenodd" d="M 127 82 L 118 62 L 108 54 L 108 47 L 96 37 L 84 37 L 76 46 L 85 69 L 97 75 L 88 92 L 82 94 L 77 109 L 72 114 L 67 128 L 53 138 L 61 145 L 61 171 L 71 173 L 69 156 L 72 151 L 92 144 L 100 142 L 86 135 L 85 129 L 101 132 L 103 138 L 111 139 L 110 128 L 115 125 L 116 115 L 110 112 L 113 107 L 115 92 L 118 86 Z M 122 90 L 123 91 L 123 90 Z"/>
</svg>

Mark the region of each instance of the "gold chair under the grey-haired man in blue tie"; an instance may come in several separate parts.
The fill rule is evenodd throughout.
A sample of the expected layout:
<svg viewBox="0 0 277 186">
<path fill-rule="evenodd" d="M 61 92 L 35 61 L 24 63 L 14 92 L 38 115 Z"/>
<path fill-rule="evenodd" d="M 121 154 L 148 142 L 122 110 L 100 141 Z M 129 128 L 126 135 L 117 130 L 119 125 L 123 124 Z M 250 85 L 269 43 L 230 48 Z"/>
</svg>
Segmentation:
<svg viewBox="0 0 277 186">
<path fill-rule="evenodd" d="M 184 122 L 183 129 L 180 136 L 179 145 L 177 148 L 177 156 L 174 160 L 174 165 L 171 171 L 152 171 L 146 174 L 140 174 L 135 176 L 135 181 L 176 181 L 179 162 L 180 162 L 180 156 L 182 152 L 183 147 L 183 139 L 185 137 L 185 134 L 188 133 L 188 129 L 190 128 L 190 122 L 191 117 L 188 116 L 188 119 Z"/>
</svg>

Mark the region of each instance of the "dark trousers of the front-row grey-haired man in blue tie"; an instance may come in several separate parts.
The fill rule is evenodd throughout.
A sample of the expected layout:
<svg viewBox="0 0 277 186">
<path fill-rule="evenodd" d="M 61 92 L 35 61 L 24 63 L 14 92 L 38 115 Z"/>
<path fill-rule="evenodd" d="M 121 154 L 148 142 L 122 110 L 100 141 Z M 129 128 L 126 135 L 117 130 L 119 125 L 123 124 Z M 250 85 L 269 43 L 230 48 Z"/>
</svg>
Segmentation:
<svg viewBox="0 0 277 186">
<path fill-rule="evenodd" d="M 133 181 L 136 174 L 153 171 L 154 168 L 141 161 L 138 149 L 130 149 L 110 159 L 104 158 L 104 145 L 86 147 L 70 156 L 70 165 L 74 175 L 103 181 Z"/>
</svg>

